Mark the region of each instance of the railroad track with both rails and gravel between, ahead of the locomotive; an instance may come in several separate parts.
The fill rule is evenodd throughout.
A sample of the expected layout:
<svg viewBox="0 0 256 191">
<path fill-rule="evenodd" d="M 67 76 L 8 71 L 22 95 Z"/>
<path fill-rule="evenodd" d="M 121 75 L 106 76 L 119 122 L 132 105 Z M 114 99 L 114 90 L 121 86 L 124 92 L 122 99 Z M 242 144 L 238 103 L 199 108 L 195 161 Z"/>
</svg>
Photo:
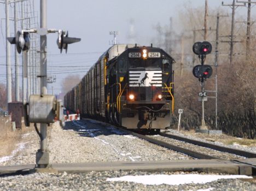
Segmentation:
<svg viewBox="0 0 256 191">
<path fill-rule="evenodd" d="M 105 124 L 103 122 L 100 122 Z M 115 126 L 114 126 L 115 127 Z M 159 133 L 159 136 L 143 135 L 131 130 L 127 130 L 120 127 L 115 127 L 127 134 L 131 134 L 143 140 L 149 141 L 152 144 L 156 144 L 162 147 L 166 147 L 170 150 L 186 154 L 196 159 L 228 159 L 237 160 L 245 158 L 256 158 L 256 153 L 236 150 L 234 148 L 228 148 L 224 146 L 218 146 L 203 141 L 197 141 L 193 139 L 183 138 L 181 136 Z"/>
</svg>

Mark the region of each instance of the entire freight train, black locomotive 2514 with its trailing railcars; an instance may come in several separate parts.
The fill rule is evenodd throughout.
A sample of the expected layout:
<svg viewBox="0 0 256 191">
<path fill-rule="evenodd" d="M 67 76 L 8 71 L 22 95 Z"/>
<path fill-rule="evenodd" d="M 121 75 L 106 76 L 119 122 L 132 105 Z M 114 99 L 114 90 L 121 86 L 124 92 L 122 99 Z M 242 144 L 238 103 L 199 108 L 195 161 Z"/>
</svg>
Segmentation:
<svg viewBox="0 0 256 191">
<path fill-rule="evenodd" d="M 173 63 L 170 55 L 152 45 L 113 45 L 65 95 L 65 107 L 127 129 L 170 127 Z"/>
</svg>

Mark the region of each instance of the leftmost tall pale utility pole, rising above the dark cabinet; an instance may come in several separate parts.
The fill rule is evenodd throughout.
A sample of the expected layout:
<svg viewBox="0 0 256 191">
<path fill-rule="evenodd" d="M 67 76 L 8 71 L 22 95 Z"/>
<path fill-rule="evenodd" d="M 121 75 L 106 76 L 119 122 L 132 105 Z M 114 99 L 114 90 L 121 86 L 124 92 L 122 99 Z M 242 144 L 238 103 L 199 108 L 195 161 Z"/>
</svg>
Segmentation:
<svg viewBox="0 0 256 191">
<path fill-rule="evenodd" d="M 10 37 L 9 28 L 9 0 L 5 0 L 5 34 Z M 7 103 L 11 102 L 11 63 L 10 63 L 10 43 L 6 38 L 6 75 L 7 75 Z"/>
</svg>

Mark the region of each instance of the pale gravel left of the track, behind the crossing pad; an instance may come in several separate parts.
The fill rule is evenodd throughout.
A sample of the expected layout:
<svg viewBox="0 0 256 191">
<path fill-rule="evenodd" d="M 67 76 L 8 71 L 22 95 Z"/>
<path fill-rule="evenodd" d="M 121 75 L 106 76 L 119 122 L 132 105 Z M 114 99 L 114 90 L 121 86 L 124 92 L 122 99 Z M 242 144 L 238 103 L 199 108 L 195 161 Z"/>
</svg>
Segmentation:
<svg viewBox="0 0 256 191">
<path fill-rule="evenodd" d="M 48 130 L 50 163 L 115 162 L 191 159 L 182 153 L 150 144 L 110 125 L 92 120 L 54 123 Z M 0 165 L 34 164 L 39 139 L 36 132 L 24 135 L 24 146 Z"/>
</svg>

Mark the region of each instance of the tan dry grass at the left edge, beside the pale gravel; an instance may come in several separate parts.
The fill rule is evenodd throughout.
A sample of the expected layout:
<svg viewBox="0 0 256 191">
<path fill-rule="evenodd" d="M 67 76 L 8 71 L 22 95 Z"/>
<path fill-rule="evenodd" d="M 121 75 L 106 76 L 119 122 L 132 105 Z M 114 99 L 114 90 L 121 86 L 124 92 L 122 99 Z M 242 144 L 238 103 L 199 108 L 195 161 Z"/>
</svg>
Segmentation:
<svg viewBox="0 0 256 191">
<path fill-rule="evenodd" d="M 22 126 L 22 129 L 16 129 L 14 132 L 11 127 L 11 122 L 8 117 L 0 118 L 0 157 L 9 156 L 22 140 L 22 134 L 31 132 L 34 130 L 32 127 L 26 128 Z"/>
</svg>

